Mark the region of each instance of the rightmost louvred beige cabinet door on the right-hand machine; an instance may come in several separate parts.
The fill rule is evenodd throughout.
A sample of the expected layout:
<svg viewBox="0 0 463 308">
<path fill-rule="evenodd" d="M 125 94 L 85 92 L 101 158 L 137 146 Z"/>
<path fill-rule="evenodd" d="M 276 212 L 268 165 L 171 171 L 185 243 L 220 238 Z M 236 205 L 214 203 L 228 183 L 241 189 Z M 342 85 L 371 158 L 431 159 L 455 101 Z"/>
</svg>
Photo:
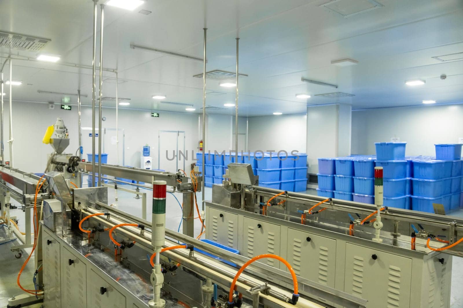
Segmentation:
<svg viewBox="0 0 463 308">
<path fill-rule="evenodd" d="M 411 277 L 412 259 L 346 243 L 344 292 L 369 308 L 418 307 L 410 305 Z"/>
</svg>

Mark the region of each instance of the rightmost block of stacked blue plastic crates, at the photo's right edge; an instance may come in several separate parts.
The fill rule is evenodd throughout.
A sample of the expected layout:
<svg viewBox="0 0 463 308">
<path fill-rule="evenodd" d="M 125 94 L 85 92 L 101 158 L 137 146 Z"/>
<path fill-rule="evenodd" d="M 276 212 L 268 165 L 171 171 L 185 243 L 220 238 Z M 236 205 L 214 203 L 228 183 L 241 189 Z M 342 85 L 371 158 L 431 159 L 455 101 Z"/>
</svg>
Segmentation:
<svg viewBox="0 0 463 308">
<path fill-rule="evenodd" d="M 445 211 L 461 206 L 461 148 L 461 144 L 436 145 L 436 157 L 413 160 L 413 210 L 433 213 L 433 203 L 444 205 Z"/>
</svg>

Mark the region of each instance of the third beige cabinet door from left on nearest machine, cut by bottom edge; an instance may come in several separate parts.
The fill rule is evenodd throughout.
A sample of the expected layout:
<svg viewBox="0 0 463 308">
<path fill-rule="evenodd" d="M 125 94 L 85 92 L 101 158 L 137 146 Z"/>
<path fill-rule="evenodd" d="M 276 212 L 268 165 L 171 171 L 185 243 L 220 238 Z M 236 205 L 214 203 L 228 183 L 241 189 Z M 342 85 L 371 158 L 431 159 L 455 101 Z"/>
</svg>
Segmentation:
<svg viewBox="0 0 463 308">
<path fill-rule="evenodd" d="M 103 288 L 103 289 L 101 289 Z M 106 279 L 90 270 L 88 277 L 89 307 L 92 308 L 126 308 L 126 299 Z M 101 294 L 103 293 L 103 294 Z"/>
</svg>

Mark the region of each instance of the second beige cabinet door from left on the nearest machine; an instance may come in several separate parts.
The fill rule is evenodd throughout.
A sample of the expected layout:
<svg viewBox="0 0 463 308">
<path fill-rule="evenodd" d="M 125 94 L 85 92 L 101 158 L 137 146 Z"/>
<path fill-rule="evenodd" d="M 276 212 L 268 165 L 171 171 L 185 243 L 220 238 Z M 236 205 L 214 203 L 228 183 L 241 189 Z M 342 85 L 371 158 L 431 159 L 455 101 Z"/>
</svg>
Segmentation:
<svg viewBox="0 0 463 308">
<path fill-rule="evenodd" d="M 87 266 L 68 249 L 61 247 L 63 302 L 69 308 L 87 307 Z"/>
</svg>

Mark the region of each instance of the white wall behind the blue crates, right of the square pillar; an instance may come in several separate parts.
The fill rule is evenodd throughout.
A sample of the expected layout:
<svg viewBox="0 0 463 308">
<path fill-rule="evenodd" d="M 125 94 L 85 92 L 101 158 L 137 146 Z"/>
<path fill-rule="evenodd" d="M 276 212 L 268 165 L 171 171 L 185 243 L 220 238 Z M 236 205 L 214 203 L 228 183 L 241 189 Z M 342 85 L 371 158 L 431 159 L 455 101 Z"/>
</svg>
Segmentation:
<svg viewBox="0 0 463 308">
<path fill-rule="evenodd" d="M 352 154 L 375 154 L 375 142 L 399 137 L 406 155 L 435 155 L 434 144 L 463 137 L 463 105 L 352 111 Z"/>
</svg>

